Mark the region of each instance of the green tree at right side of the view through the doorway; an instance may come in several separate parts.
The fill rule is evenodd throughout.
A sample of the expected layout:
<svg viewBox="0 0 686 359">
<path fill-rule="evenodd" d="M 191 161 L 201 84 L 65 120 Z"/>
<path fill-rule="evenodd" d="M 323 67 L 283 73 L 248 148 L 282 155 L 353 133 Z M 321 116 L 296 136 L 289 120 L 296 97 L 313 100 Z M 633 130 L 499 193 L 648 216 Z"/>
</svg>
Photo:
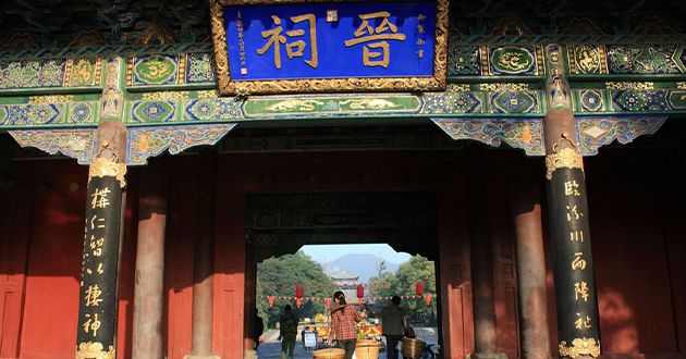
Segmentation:
<svg viewBox="0 0 686 359">
<path fill-rule="evenodd" d="M 421 256 L 414 256 L 401 264 L 397 272 L 383 272 L 369 280 L 369 290 L 372 296 L 391 297 L 414 296 L 415 284 L 424 282 L 424 294 L 431 294 L 436 298 L 436 264 Z M 427 307 L 422 299 L 406 300 L 404 306 L 413 312 L 429 312 L 436 310 L 436 300 Z"/>
</svg>

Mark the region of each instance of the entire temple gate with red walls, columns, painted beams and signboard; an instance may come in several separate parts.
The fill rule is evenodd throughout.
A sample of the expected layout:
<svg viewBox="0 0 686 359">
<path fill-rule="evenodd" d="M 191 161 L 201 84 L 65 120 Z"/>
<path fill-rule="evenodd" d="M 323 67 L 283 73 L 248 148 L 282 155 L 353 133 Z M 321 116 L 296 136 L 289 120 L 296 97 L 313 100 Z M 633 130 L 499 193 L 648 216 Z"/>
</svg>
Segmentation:
<svg viewBox="0 0 686 359">
<path fill-rule="evenodd" d="M 549 5 L 10 1 L 0 358 L 243 358 L 294 193 L 411 209 L 443 358 L 683 358 L 685 4 Z"/>
</svg>

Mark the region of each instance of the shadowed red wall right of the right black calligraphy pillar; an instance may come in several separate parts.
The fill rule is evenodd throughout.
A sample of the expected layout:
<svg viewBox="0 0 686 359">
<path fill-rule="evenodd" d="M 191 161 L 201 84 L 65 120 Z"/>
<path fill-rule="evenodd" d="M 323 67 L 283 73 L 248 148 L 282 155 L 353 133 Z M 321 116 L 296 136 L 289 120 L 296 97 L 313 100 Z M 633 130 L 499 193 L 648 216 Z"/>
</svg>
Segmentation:
<svg viewBox="0 0 686 359">
<path fill-rule="evenodd" d="M 601 344 L 608 354 L 659 357 L 686 348 L 677 332 L 686 329 L 685 191 L 663 156 L 612 150 L 588 161 Z"/>
</svg>

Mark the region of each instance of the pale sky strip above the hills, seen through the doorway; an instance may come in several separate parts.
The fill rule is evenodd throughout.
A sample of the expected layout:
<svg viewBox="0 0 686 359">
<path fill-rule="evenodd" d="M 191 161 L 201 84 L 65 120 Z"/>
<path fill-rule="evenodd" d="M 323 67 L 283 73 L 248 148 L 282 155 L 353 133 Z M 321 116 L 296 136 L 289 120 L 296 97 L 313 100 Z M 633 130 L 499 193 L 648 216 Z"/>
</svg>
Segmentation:
<svg viewBox="0 0 686 359">
<path fill-rule="evenodd" d="M 400 264 L 409 259 L 405 252 L 396 252 L 387 244 L 373 245 L 314 245 L 303 246 L 302 250 L 319 263 L 334 261 L 345 255 L 375 255 L 388 262 Z"/>
</svg>

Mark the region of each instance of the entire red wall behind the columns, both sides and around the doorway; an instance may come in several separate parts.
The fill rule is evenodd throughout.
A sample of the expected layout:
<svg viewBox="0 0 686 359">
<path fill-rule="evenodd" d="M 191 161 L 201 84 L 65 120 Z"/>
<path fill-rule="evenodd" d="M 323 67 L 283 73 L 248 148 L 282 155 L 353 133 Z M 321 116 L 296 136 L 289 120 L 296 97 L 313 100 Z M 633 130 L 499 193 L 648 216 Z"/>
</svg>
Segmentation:
<svg viewBox="0 0 686 359">
<path fill-rule="evenodd" d="M 674 166 L 651 162 L 659 154 L 632 157 L 634 164 L 626 164 L 626 153 L 587 160 L 602 345 L 612 354 L 675 354 L 686 347 L 686 275 L 682 268 L 686 260 L 686 210 L 682 205 L 686 191 L 669 172 Z M 492 151 L 468 154 L 483 161 L 489 173 L 483 200 L 489 205 L 494 244 L 498 346 L 517 357 L 516 259 L 512 219 L 504 205 L 507 177 L 503 175 L 512 173 L 505 169 L 517 162 Z M 364 188 L 437 193 L 444 346 L 446 357 L 464 358 L 473 350 L 474 332 L 469 234 L 465 231 L 471 207 L 465 175 L 471 168 L 455 152 L 334 152 L 154 161 L 169 170 L 169 184 L 161 184 L 169 186 L 169 357 L 181 359 L 191 349 L 192 245 L 200 231 L 211 231 L 216 237 L 213 347 L 223 358 L 240 358 L 245 311 L 245 195 Z M 131 350 L 136 171 L 130 176 L 122 248 L 119 358 L 127 358 Z M 0 357 L 71 359 L 86 169 L 71 161 L 21 162 L 19 177 L 20 185 L 12 191 L 0 193 Z M 203 190 L 216 190 L 216 202 L 204 202 L 197 196 Z M 199 215 L 213 218 L 213 224 L 198 221 Z M 549 299 L 554 348 L 552 287 Z"/>
</svg>

